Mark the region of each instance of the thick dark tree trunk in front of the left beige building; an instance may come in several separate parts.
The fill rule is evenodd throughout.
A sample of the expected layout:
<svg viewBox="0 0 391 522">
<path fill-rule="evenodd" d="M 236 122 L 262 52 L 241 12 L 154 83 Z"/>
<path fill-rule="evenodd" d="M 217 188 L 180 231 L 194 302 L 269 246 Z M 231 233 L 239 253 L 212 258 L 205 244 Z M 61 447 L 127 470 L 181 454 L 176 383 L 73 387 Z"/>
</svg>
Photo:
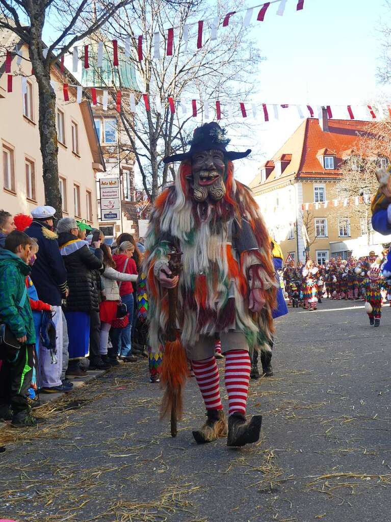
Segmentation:
<svg viewBox="0 0 391 522">
<path fill-rule="evenodd" d="M 58 184 L 58 145 L 56 128 L 56 96 L 50 85 L 50 63 L 43 58 L 41 34 L 32 34 L 29 55 L 38 84 L 39 135 L 41 139 L 42 177 L 45 189 L 45 205 L 56 209 L 62 218 L 62 200 Z M 34 31 L 32 31 L 34 33 Z"/>
</svg>

